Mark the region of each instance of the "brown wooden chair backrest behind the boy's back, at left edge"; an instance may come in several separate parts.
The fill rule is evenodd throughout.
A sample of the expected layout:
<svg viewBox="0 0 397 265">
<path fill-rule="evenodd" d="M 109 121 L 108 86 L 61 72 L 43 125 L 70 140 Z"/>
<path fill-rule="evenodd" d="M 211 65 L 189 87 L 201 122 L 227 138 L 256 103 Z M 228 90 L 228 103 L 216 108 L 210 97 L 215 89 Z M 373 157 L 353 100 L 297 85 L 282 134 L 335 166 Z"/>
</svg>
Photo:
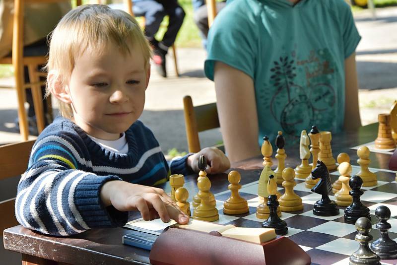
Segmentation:
<svg viewBox="0 0 397 265">
<path fill-rule="evenodd" d="M 0 146 L 0 181 L 23 174 L 28 166 L 30 151 L 35 140 Z M 0 232 L 15 226 L 15 198 L 0 201 Z"/>
</svg>

